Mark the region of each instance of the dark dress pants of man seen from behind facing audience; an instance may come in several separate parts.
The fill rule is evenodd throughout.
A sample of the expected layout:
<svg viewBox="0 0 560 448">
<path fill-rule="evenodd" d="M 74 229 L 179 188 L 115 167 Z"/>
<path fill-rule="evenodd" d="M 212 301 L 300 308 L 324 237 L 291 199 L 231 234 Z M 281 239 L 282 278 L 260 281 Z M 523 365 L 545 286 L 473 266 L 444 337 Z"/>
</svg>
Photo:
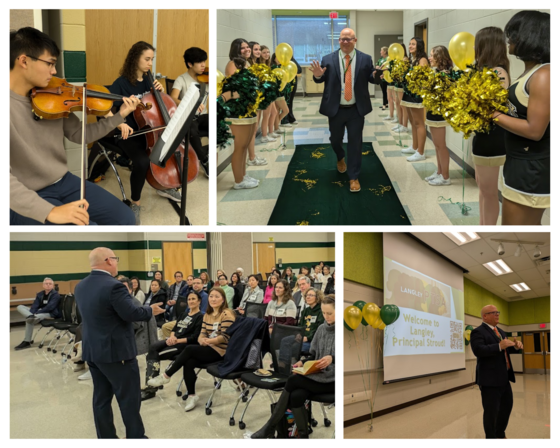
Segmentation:
<svg viewBox="0 0 560 448">
<path fill-rule="evenodd" d="M 93 418 L 98 439 L 117 439 L 111 402 L 121 410 L 127 439 L 146 439 L 140 416 L 140 371 L 136 358 L 122 362 L 88 361 L 93 380 Z"/>
</svg>

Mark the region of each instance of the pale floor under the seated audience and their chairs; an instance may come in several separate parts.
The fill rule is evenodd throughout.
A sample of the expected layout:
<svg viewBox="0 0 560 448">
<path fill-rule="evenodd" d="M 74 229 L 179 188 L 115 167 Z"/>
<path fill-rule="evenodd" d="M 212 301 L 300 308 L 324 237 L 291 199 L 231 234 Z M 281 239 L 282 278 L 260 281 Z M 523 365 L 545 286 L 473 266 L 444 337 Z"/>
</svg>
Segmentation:
<svg viewBox="0 0 560 448">
<path fill-rule="evenodd" d="M 23 339 L 24 327 L 10 332 L 10 437 L 12 439 L 92 439 L 96 437 L 92 411 L 93 384 L 78 381 L 82 372 L 72 370 L 72 362 L 63 363 L 60 352 L 52 354 L 46 347 L 14 351 Z M 44 332 L 42 333 L 44 334 Z M 50 337 L 50 336 L 49 336 Z M 48 339 L 47 339 L 48 340 Z M 62 348 L 62 346 L 59 346 Z M 146 369 L 145 356 L 138 357 L 141 381 Z M 163 362 L 164 368 L 168 361 Z M 195 409 L 185 412 L 185 402 L 175 395 L 181 374 L 157 393 L 155 398 L 142 403 L 141 415 L 146 435 L 153 439 L 243 439 L 257 431 L 270 416 L 270 400 L 264 391 L 255 395 L 244 422 L 238 421 L 243 403 L 237 408 L 235 425 L 229 418 L 238 393 L 231 381 L 225 381 L 213 399 L 211 415 L 204 412 L 204 404 L 214 387 L 212 377 L 201 372 L 197 381 L 200 396 Z M 185 391 L 183 385 L 183 392 Z M 335 410 L 327 409 L 330 427 L 325 427 L 320 407 L 313 405 L 314 417 L 319 424 L 311 438 L 332 438 L 335 428 Z M 113 400 L 115 427 L 119 437 L 125 437 L 124 425 L 116 400 Z"/>
</svg>

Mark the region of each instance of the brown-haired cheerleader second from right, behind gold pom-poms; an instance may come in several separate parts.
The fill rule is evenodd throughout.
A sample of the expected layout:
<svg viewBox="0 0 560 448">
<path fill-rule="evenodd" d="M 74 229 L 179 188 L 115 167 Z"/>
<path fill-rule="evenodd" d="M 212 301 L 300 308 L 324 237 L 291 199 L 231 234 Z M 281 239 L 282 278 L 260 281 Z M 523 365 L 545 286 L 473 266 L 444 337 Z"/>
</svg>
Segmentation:
<svg viewBox="0 0 560 448">
<path fill-rule="evenodd" d="M 509 88 L 509 59 L 506 37 L 497 27 L 482 28 L 474 42 L 476 67 L 491 68 L 500 77 L 504 89 Z M 475 134 L 472 154 L 475 165 L 480 225 L 495 226 L 500 214 L 498 178 L 500 166 L 506 161 L 505 129 L 495 126 L 488 134 Z"/>
</svg>

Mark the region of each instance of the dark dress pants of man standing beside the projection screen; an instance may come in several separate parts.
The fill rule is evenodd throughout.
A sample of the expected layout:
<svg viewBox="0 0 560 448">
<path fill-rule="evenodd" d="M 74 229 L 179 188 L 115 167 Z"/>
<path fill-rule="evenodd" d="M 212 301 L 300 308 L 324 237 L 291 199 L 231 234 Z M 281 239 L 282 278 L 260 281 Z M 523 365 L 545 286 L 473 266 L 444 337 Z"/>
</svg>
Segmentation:
<svg viewBox="0 0 560 448">
<path fill-rule="evenodd" d="M 484 432 L 487 439 L 503 439 L 509 415 L 513 408 L 513 392 L 511 384 L 507 386 L 491 387 L 480 386 L 482 407 L 484 408 Z"/>
</svg>

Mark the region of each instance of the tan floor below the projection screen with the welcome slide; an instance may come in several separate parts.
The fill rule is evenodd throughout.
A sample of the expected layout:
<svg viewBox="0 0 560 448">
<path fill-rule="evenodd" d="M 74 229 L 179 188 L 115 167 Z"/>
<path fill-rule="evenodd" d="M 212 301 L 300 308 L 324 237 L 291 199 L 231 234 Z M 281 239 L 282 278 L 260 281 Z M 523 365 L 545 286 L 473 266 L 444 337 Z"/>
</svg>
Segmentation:
<svg viewBox="0 0 560 448">
<path fill-rule="evenodd" d="M 550 438 L 550 376 L 516 375 L 508 439 Z M 347 439 L 483 439 L 478 386 L 345 428 Z"/>
</svg>

